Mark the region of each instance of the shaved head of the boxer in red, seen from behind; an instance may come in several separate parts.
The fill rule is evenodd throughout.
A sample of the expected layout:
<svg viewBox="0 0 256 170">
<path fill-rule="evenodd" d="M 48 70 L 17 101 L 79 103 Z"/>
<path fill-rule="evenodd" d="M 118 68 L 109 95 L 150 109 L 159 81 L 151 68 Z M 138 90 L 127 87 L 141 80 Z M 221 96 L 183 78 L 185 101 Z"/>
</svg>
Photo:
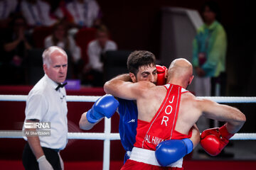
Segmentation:
<svg viewBox="0 0 256 170">
<path fill-rule="evenodd" d="M 179 58 L 171 62 L 171 65 L 168 69 L 168 79 L 169 81 L 178 81 L 183 84 L 183 87 L 186 88 L 188 84 L 191 84 L 193 79 L 193 67 L 188 60 Z"/>
</svg>

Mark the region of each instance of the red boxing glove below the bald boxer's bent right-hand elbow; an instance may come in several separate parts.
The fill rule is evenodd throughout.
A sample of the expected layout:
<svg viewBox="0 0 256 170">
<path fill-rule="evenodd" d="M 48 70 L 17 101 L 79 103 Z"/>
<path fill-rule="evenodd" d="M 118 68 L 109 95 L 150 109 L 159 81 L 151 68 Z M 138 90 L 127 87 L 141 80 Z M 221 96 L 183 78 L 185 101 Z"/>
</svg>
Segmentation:
<svg viewBox="0 0 256 170">
<path fill-rule="evenodd" d="M 233 135 L 228 132 L 225 124 L 220 128 L 204 130 L 201 134 L 200 144 L 208 154 L 216 156 L 228 145 L 228 140 Z"/>
</svg>

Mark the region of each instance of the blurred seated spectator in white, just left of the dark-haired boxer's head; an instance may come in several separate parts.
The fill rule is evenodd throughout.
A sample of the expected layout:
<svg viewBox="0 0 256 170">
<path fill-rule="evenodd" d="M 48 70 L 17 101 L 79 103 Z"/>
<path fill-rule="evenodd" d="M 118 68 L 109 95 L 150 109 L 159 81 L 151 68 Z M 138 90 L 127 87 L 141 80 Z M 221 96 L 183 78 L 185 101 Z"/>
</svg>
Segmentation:
<svg viewBox="0 0 256 170">
<path fill-rule="evenodd" d="M 92 86 L 103 85 L 103 62 L 107 50 L 117 50 L 117 44 L 109 40 L 109 32 L 106 26 L 99 26 L 96 32 L 96 39 L 92 40 L 87 47 L 89 63 L 85 66 L 85 72 L 92 75 L 90 83 Z"/>
</svg>

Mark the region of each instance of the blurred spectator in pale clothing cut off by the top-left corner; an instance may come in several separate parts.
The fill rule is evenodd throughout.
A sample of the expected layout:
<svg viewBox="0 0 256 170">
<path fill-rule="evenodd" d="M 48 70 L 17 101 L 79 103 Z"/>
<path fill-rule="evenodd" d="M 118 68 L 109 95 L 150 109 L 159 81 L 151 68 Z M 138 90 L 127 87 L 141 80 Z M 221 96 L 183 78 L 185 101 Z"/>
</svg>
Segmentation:
<svg viewBox="0 0 256 170">
<path fill-rule="evenodd" d="M 15 13 L 18 9 L 17 0 L 0 0 L 0 27 L 8 26 L 11 13 Z"/>
</svg>

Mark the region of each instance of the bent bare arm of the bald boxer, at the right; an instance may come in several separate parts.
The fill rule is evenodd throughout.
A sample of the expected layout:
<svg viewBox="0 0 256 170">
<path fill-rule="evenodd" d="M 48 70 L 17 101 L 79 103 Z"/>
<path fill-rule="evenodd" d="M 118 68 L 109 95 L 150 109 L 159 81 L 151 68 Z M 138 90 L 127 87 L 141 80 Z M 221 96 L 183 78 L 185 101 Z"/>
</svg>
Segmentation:
<svg viewBox="0 0 256 170">
<path fill-rule="evenodd" d="M 230 133 L 238 132 L 246 120 L 245 115 L 237 108 L 219 104 L 208 99 L 201 100 L 200 107 L 206 118 L 228 122 L 227 130 Z"/>
</svg>

